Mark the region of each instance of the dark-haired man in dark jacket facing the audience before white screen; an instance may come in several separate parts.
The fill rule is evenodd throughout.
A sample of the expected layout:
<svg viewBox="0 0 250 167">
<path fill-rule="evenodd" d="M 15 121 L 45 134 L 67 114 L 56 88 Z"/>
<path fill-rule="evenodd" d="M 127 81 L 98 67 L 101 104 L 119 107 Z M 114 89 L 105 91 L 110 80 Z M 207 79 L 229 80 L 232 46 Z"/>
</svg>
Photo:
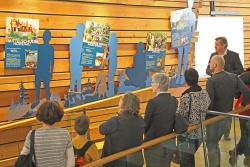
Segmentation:
<svg viewBox="0 0 250 167">
<path fill-rule="evenodd" d="M 215 39 L 216 52 L 211 54 L 209 62 L 213 56 L 223 55 L 225 60 L 224 70 L 230 73 L 234 73 L 236 75 L 240 75 L 244 71 L 244 69 L 240 61 L 239 54 L 231 50 L 228 50 L 227 47 L 228 47 L 227 39 L 225 37 L 217 37 Z M 212 75 L 212 71 L 210 70 L 209 64 L 207 66 L 206 73 L 210 76 Z M 230 140 L 229 134 L 231 131 L 231 124 L 232 121 L 228 121 L 227 130 L 224 133 L 225 140 Z"/>
</svg>

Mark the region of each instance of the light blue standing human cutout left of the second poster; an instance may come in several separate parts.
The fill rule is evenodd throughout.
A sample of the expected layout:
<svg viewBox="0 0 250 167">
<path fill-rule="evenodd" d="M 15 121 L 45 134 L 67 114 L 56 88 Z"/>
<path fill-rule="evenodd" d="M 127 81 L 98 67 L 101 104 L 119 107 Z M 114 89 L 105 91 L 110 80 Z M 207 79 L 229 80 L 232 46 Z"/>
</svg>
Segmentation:
<svg viewBox="0 0 250 167">
<path fill-rule="evenodd" d="M 81 53 L 83 52 L 83 34 L 85 26 L 79 23 L 76 27 L 76 36 L 70 40 L 70 91 L 75 91 L 75 83 L 77 85 L 77 92 L 81 92 L 82 85 L 82 71 L 83 67 L 80 65 Z"/>
</svg>

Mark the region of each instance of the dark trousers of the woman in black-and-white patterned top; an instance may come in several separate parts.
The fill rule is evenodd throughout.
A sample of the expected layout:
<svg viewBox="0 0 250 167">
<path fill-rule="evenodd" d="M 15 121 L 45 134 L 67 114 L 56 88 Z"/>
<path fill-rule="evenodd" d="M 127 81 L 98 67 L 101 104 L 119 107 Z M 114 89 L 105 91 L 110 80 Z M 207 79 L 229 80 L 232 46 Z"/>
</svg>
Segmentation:
<svg viewBox="0 0 250 167">
<path fill-rule="evenodd" d="M 200 139 L 185 139 L 186 144 L 190 147 L 190 152 L 187 150 L 180 150 L 180 167 L 195 167 L 195 153 L 201 145 Z M 181 141 L 180 141 L 181 142 Z"/>
</svg>

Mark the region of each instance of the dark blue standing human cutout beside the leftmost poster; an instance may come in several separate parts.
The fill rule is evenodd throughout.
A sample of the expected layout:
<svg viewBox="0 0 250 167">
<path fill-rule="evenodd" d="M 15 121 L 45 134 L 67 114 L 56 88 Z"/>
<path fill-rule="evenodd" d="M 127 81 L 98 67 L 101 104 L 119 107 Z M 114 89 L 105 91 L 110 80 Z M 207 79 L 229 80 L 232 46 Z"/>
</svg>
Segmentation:
<svg viewBox="0 0 250 167">
<path fill-rule="evenodd" d="M 46 99 L 50 99 L 50 81 L 54 69 L 54 48 L 49 44 L 50 39 L 50 31 L 45 30 L 43 33 L 44 43 L 38 46 L 38 59 L 35 76 L 36 102 L 33 107 L 40 102 L 40 87 L 42 81 L 45 88 Z"/>
</svg>

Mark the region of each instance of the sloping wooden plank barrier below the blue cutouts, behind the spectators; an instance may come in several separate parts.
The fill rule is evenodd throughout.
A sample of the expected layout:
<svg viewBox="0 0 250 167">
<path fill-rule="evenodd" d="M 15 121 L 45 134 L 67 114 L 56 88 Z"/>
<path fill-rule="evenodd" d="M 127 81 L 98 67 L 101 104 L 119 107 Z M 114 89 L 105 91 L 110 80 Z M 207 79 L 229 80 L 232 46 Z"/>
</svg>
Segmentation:
<svg viewBox="0 0 250 167">
<path fill-rule="evenodd" d="M 171 88 L 169 93 L 173 96 L 180 97 L 185 87 Z M 151 88 L 146 88 L 138 91 L 134 91 L 138 97 L 140 97 L 141 111 L 143 115 L 147 101 L 153 97 Z M 56 124 L 58 128 L 65 128 L 69 131 L 71 138 L 75 136 L 74 122 L 75 118 L 82 115 L 82 110 L 86 109 L 86 114 L 90 119 L 90 137 L 92 141 L 98 142 L 97 146 L 102 149 L 103 135 L 99 133 L 99 125 L 107 121 L 111 117 L 115 116 L 119 111 L 118 102 L 121 95 L 107 98 L 97 102 L 84 104 L 78 107 L 65 109 L 64 117 L 62 121 Z M 7 123 L 1 123 L 0 125 L 0 166 L 12 166 L 15 159 L 20 154 L 21 148 L 25 141 L 27 133 L 31 129 L 37 129 L 42 126 L 42 123 L 35 118 L 26 118 L 23 120 L 15 120 Z M 11 149 L 6 149 L 10 148 Z"/>
</svg>

